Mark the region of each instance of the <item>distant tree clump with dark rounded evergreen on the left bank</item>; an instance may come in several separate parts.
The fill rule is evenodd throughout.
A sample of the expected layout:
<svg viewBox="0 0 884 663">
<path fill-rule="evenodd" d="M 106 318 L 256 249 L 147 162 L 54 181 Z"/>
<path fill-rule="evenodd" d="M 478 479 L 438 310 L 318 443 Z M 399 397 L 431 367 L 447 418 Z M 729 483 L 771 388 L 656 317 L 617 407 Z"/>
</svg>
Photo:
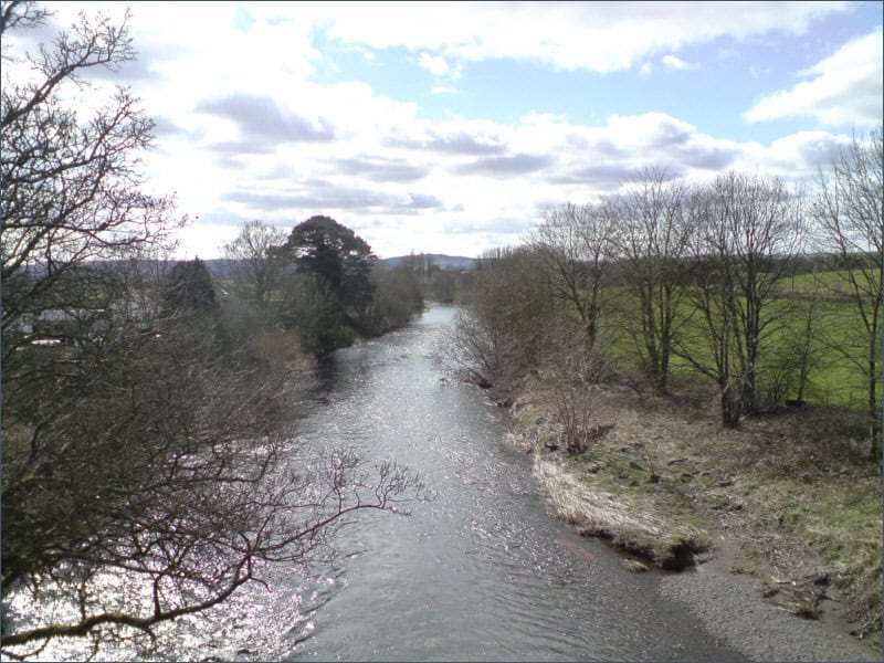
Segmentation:
<svg viewBox="0 0 884 663">
<path fill-rule="evenodd" d="M 423 254 L 386 266 L 362 238 L 324 215 L 287 236 L 262 221 L 244 223 L 224 256 L 219 286 L 233 299 L 231 327 L 288 330 L 311 355 L 400 327 L 425 297 L 451 302 L 459 287 L 457 275 Z"/>
</svg>

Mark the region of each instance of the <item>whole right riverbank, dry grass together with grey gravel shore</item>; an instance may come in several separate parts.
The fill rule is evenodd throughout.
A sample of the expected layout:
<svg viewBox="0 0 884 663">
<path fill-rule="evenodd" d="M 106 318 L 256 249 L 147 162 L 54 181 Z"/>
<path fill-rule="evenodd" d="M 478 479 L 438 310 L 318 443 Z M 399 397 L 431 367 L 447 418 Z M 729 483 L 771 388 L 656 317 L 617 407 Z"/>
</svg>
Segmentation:
<svg viewBox="0 0 884 663">
<path fill-rule="evenodd" d="M 699 562 L 664 593 L 749 657 L 880 659 L 881 476 L 845 435 L 852 423 L 815 409 L 724 430 L 714 393 L 675 392 L 586 392 L 588 407 L 569 409 L 593 432 L 579 455 L 559 448 L 560 392 L 512 399 L 514 441 L 554 513 L 633 570 Z"/>
</svg>

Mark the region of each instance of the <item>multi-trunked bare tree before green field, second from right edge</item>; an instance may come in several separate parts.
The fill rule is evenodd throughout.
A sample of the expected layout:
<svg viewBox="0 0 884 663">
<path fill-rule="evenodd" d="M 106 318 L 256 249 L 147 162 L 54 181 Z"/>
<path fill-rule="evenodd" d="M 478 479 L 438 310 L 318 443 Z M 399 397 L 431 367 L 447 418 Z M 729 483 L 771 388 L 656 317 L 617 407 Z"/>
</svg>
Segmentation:
<svg viewBox="0 0 884 663">
<path fill-rule="evenodd" d="M 799 203 L 781 180 L 738 172 L 717 177 L 692 202 L 697 233 L 688 293 L 702 339 L 685 337 L 678 355 L 716 381 L 729 428 L 759 404 L 759 359 L 777 320 L 769 304 L 802 240 Z"/>
</svg>

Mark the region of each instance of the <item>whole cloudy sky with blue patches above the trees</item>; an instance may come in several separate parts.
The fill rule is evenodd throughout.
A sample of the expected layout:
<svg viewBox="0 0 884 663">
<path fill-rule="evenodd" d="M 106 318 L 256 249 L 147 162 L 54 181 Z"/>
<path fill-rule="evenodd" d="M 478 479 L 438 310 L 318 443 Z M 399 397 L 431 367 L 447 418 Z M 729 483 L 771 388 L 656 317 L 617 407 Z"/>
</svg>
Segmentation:
<svg viewBox="0 0 884 663">
<path fill-rule="evenodd" d="M 146 189 L 189 217 L 182 259 L 315 214 L 381 257 L 475 256 L 648 166 L 800 186 L 882 122 L 881 2 L 43 7 L 31 44 L 130 8 L 138 60 L 78 103 L 125 85 L 155 119 Z"/>
</svg>

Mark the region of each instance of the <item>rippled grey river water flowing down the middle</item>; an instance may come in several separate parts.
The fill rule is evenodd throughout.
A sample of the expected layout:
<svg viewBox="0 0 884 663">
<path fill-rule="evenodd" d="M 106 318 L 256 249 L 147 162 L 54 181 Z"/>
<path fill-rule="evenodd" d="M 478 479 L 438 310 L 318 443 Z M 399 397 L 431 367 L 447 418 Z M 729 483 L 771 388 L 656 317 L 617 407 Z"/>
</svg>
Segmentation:
<svg viewBox="0 0 884 663">
<path fill-rule="evenodd" d="M 354 445 L 417 470 L 430 502 L 369 514 L 291 660 L 739 659 L 675 603 L 653 573 L 625 571 L 603 544 L 547 512 L 530 457 L 507 441 L 485 392 L 433 359 L 455 309 L 338 351 L 301 423 L 308 443 Z M 322 582 L 320 582 L 322 583 Z M 314 592 L 314 599 L 317 599 Z"/>
</svg>

